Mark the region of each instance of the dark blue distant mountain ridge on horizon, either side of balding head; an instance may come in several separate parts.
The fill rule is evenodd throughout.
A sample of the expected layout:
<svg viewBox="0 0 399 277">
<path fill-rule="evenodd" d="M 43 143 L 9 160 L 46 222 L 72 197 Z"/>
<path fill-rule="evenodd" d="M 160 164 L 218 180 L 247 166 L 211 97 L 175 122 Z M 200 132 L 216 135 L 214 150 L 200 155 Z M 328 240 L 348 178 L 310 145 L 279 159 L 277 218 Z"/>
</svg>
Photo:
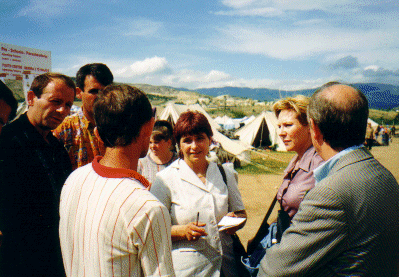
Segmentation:
<svg viewBox="0 0 399 277">
<path fill-rule="evenodd" d="M 399 86 L 366 83 L 353 84 L 359 88 L 367 97 L 370 108 L 372 109 L 392 109 L 399 106 Z M 222 87 L 197 89 L 197 92 L 210 96 L 228 94 L 230 96 L 251 98 L 259 101 L 275 101 L 281 97 L 295 96 L 303 94 L 310 96 L 314 89 L 304 89 L 295 91 L 279 91 L 267 88 L 246 88 L 246 87 Z"/>
</svg>

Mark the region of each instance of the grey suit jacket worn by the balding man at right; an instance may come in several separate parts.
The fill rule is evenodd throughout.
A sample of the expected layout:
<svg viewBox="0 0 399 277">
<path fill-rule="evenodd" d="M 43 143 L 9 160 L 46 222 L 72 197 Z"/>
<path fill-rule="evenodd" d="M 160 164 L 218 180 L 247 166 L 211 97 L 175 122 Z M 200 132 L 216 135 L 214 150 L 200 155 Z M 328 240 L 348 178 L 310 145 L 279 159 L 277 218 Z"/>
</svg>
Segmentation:
<svg viewBox="0 0 399 277">
<path fill-rule="evenodd" d="M 360 148 L 305 196 L 258 276 L 398 276 L 398 268 L 399 186 Z"/>
</svg>

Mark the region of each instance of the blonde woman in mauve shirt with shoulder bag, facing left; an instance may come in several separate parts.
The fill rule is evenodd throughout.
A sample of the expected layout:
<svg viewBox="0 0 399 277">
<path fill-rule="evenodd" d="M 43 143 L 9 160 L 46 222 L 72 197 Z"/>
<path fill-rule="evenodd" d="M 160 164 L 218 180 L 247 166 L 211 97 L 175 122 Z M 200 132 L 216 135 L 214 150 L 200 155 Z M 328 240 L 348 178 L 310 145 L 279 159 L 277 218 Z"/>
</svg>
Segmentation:
<svg viewBox="0 0 399 277">
<path fill-rule="evenodd" d="M 285 169 L 283 183 L 276 195 L 281 206 L 277 222 L 270 224 L 270 227 L 264 225 L 263 222 L 255 237 L 248 242 L 247 249 L 250 256 L 243 262 L 251 276 L 256 276 L 258 273 L 259 263 L 265 255 L 266 249 L 279 242 L 282 234 L 291 224 L 291 219 L 298 211 L 299 204 L 315 185 L 313 170 L 323 163 L 323 159 L 312 145 L 307 119 L 308 105 L 309 99 L 303 95 L 287 97 L 273 105 L 279 136 L 287 151 L 295 151 L 296 155 Z M 275 201 L 269 211 L 273 208 Z M 266 228 L 264 229 L 262 226 L 266 226 Z"/>
</svg>

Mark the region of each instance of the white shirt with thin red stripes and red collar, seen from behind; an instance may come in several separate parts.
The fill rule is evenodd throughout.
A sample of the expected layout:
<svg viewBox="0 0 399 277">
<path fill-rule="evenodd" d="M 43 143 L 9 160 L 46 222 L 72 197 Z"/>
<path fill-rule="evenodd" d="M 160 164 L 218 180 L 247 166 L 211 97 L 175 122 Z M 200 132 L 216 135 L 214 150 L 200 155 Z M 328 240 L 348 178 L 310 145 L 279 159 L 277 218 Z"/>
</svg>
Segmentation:
<svg viewBox="0 0 399 277">
<path fill-rule="evenodd" d="M 61 193 L 60 240 L 67 276 L 174 276 L 170 216 L 135 171 L 96 157 Z"/>
</svg>

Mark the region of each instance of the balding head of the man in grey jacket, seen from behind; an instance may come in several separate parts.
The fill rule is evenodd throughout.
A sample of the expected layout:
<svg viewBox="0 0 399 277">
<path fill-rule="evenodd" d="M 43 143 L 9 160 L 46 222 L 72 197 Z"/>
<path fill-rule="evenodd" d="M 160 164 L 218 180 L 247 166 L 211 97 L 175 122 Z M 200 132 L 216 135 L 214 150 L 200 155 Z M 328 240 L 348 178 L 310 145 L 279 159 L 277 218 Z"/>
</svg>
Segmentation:
<svg viewBox="0 0 399 277">
<path fill-rule="evenodd" d="M 324 141 L 335 150 L 364 142 L 368 118 L 368 101 L 352 86 L 330 82 L 310 99 L 308 118 L 313 119 Z"/>
</svg>

